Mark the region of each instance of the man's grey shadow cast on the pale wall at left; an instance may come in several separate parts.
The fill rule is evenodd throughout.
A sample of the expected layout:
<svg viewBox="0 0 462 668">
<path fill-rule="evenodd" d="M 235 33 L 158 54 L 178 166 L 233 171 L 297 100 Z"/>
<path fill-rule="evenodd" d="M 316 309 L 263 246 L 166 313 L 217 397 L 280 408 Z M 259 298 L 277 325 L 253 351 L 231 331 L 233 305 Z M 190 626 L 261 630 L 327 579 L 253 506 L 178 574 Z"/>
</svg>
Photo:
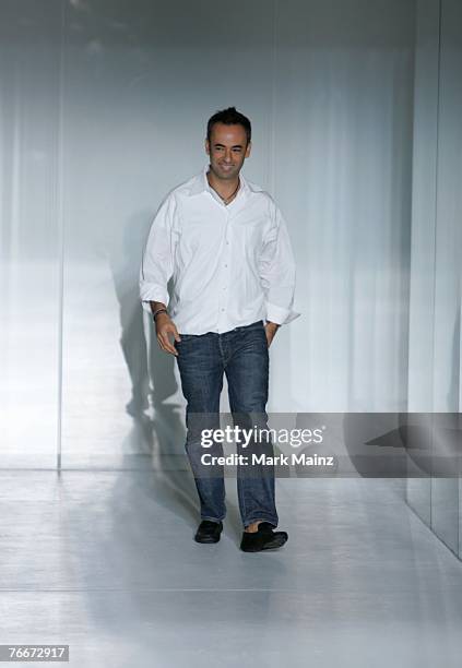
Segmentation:
<svg viewBox="0 0 462 668">
<path fill-rule="evenodd" d="M 150 465 L 156 473 L 156 500 L 170 512 L 186 513 L 191 520 L 196 515 L 192 500 L 197 494 L 185 452 L 183 408 L 175 401 L 168 402 L 178 392 L 176 361 L 159 349 L 154 330 L 145 330 L 139 296 L 139 270 L 152 217 L 151 211 L 132 215 L 119 243 L 112 240 L 108 244 L 120 308 L 119 341 L 131 381 L 126 409 L 133 418 L 130 442 L 137 448 L 137 454 L 150 456 Z M 132 454 L 133 448 L 126 457 L 127 468 L 133 465 Z"/>
</svg>

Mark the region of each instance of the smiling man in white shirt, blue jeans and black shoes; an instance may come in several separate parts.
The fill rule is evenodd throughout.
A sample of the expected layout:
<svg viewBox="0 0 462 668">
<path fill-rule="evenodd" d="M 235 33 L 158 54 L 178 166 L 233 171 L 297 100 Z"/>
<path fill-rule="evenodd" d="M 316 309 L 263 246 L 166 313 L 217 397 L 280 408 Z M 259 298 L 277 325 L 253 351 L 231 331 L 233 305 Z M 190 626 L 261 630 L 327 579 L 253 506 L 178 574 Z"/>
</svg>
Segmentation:
<svg viewBox="0 0 462 668">
<path fill-rule="evenodd" d="M 203 457 L 206 453 L 210 462 L 223 455 L 221 442 L 205 450 L 201 441 L 204 427 L 209 433 L 220 428 L 223 374 L 235 425 L 257 421 L 264 428 L 268 348 L 279 326 L 298 315 L 292 310 L 295 264 L 283 216 L 268 192 L 240 175 L 250 150 L 250 121 L 235 107 L 210 118 L 210 164 L 161 204 L 140 271 L 143 308 L 153 314 L 158 345 L 179 367 L 186 451 L 201 505 L 194 538 L 205 544 L 220 540 L 226 514 L 223 464 L 216 458 L 211 469 Z M 252 452 L 264 454 L 269 448 L 272 454 L 271 443 L 253 443 Z M 242 443 L 238 450 L 245 452 Z M 237 468 L 240 548 L 279 548 L 287 534 L 274 530 L 274 470 L 252 462 Z"/>
</svg>

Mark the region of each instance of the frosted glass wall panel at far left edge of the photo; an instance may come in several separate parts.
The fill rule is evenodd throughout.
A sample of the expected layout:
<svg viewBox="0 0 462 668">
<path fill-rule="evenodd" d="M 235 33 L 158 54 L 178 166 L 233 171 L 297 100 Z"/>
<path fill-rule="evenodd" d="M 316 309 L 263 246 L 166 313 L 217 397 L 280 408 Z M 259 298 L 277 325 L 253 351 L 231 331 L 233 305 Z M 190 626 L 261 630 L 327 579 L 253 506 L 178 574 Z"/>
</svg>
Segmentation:
<svg viewBox="0 0 462 668">
<path fill-rule="evenodd" d="M 60 2 L 0 3 L 0 466 L 56 466 Z"/>
</svg>

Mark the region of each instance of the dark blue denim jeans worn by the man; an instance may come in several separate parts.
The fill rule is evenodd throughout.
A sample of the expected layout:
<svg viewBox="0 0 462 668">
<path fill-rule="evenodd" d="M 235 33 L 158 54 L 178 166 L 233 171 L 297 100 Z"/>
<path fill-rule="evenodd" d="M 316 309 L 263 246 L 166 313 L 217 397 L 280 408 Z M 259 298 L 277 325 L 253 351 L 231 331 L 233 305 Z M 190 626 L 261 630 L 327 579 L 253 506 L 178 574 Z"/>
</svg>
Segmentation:
<svg viewBox="0 0 462 668">
<path fill-rule="evenodd" d="M 204 449 L 202 429 L 220 429 L 220 395 L 223 373 L 226 374 L 229 407 L 234 424 L 251 429 L 268 427 L 269 353 L 263 322 L 236 327 L 217 334 L 180 334 L 176 342 L 181 390 L 187 401 L 186 451 L 194 475 L 201 504 L 201 518 L 220 522 L 225 517 L 225 482 L 223 466 L 204 466 L 201 457 L 223 456 L 223 446 L 213 442 Z M 236 454 L 264 453 L 273 456 L 271 440 L 251 443 L 244 449 L 236 442 Z M 242 524 L 247 527 L 258 520 L 277 526 L 274 494 L 274 467 L 260 464 L 237 465 L 237 493 Z"/>
</svg>

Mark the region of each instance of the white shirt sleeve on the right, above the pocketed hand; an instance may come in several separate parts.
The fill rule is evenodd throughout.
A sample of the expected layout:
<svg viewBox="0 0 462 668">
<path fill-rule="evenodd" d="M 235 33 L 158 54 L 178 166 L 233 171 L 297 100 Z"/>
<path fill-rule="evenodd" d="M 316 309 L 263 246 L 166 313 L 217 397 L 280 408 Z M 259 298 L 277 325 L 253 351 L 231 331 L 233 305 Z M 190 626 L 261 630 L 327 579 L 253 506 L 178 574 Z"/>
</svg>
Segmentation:
<svg viewBox="0 0 462 668">
<path fill-rule="evenodd" d="M 287 226 L 279 207 L 271 207 L 271 226 L 259 262 L 261 285 L 265 291 L 266 320 L 287 324 L 298 318 L 293 309 L 296 270 Z"/>
</svg>

